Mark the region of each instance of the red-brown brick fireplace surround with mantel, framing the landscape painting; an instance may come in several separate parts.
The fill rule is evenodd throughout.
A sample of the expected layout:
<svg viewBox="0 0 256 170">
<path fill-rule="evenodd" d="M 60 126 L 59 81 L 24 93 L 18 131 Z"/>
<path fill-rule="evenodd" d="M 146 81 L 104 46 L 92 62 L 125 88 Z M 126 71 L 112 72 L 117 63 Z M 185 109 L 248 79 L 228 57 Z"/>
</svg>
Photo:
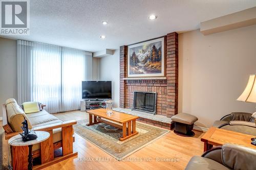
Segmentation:
<svg viewBox="0 0 256 170">
<path fill-rule="evenodd" d="M 157 92 L 156 114 L 166 117 L 177 114 L 178 34 L 176 32 L 169 33 L 164 36 L 164 40 L 164 77 L 127 78 L 127 46 L 120 46 L 120 108 L 133 108 L 134 91 Z"/>
</svg>

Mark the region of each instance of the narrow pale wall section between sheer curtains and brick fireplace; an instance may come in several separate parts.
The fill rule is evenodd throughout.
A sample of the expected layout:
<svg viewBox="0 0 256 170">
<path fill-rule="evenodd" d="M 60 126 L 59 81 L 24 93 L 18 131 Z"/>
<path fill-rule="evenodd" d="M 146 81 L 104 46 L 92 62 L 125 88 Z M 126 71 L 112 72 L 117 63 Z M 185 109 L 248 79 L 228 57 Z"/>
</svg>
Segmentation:
<svg viewBox="0 0 256 170">
<path fill-rule="evenodd" d="M 114 101 L 114 107 L 119 107 L 119 57 L 119 50 L 116 50 L 114 55 L 99 59 L 99 79 L 112 81 L 112 99 Z"/>
</svg>

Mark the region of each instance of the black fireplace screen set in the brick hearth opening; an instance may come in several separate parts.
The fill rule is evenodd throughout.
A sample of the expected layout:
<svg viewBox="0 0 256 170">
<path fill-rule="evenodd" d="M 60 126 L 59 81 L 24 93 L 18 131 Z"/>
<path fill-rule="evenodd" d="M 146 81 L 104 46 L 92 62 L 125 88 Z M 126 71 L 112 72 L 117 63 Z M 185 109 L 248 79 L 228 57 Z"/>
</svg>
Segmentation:
<svg viewBox="0 0 256 170">
<path fill-rule="evenodd" d="M 134 91 L 133 110 L 156 114 L 157 93 Z"/>
</svg>

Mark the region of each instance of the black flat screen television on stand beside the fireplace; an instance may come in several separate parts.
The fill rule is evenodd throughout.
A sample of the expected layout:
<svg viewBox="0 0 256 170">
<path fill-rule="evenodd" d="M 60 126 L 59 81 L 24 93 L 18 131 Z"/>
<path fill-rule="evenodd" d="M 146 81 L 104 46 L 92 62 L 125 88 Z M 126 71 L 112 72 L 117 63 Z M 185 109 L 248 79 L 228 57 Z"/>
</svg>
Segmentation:
<svg viewBox="0 0 256 170">
<path fill-rule="evenodd" d="M 112 99 L 112 82 L 82 81 L 82 99 Z"/>
</svg>

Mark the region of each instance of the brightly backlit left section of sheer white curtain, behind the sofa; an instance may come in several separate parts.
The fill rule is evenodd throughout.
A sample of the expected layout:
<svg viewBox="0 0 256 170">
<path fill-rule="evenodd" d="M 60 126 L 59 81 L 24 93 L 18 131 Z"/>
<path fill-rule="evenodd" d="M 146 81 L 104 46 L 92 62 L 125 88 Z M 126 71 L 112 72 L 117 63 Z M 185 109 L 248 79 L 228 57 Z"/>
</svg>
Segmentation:
<svg viewBox="0 0 256 170">
<path fill-rule="evenodd" d="M 32 101 L 46 104 L 49 113 L 61 111 L 61 47 L 33 43 Z"/>
</svg>

